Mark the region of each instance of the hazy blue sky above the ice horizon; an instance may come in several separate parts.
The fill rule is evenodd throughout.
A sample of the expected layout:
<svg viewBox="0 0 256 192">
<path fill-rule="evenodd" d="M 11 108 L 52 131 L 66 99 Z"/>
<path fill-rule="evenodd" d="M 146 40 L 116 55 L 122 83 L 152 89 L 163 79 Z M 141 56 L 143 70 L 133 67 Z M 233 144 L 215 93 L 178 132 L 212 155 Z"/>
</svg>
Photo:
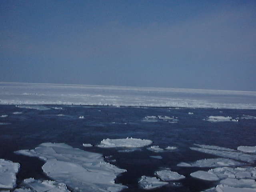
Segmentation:
<svg viewBox="0 0 256 192">
<path fill-rule="evenodd" d="M 256 1 L 1 0 L 0 81 L 256 91 Z"/>
</svg>

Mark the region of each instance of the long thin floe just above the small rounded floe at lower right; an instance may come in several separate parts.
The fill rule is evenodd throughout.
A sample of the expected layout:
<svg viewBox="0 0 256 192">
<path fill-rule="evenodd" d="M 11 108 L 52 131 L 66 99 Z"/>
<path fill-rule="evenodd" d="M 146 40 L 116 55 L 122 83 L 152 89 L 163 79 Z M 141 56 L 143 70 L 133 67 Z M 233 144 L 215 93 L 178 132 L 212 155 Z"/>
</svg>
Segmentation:
<svg viewBox="0 0 256 192">
<path fill-rule="evenodd" d="M 226 158 L 202 159 L 195 162 L 181 162 L 177 164 L 180 167 L 223 167 L 223 166 L 241 166 L 246 165 L 239 161 Z"/>
</svg>

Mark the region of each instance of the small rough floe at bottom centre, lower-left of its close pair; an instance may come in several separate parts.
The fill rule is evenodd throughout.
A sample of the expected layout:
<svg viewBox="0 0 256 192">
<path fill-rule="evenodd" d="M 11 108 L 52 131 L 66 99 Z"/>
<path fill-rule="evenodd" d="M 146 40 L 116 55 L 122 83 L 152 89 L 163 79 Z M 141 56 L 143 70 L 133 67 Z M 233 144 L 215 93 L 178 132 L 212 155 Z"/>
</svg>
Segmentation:
<svg viewBox="0 0 256 192">
<path fill-rule="evenodd" d="M 168 182 L 162 182 L 156 177 L 148 176 L 141 176 L 138 183 L 143 189 L 154 189 L 168 184 Z"/>
</svg>

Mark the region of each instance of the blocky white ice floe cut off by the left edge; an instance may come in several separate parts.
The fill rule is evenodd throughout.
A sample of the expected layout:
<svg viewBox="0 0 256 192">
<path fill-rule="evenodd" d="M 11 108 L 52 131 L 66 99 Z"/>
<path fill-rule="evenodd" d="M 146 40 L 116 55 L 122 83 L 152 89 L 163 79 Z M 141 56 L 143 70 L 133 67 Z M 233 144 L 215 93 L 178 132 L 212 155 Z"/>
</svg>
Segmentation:
<svg viewBox="0 0 256 192">
<path fill-rule="evenodd" d="M 14 188 L 16 186 L 16 174 L 19 169 L 19 163 L 0 159 L 0 188 Z"/>
</svg>

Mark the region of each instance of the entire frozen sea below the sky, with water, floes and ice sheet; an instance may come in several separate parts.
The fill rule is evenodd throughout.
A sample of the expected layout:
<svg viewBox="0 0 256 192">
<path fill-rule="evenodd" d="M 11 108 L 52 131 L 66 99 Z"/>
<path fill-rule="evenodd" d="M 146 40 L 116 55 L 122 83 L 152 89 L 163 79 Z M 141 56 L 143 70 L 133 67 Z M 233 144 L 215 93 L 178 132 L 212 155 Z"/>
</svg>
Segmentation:
<svg viewBox="0 0 256 192">
<path fill-rule="evenodd" d="M 256 191 L 255 92 L 0 90 L 0 191 Z"/>
</svg>

